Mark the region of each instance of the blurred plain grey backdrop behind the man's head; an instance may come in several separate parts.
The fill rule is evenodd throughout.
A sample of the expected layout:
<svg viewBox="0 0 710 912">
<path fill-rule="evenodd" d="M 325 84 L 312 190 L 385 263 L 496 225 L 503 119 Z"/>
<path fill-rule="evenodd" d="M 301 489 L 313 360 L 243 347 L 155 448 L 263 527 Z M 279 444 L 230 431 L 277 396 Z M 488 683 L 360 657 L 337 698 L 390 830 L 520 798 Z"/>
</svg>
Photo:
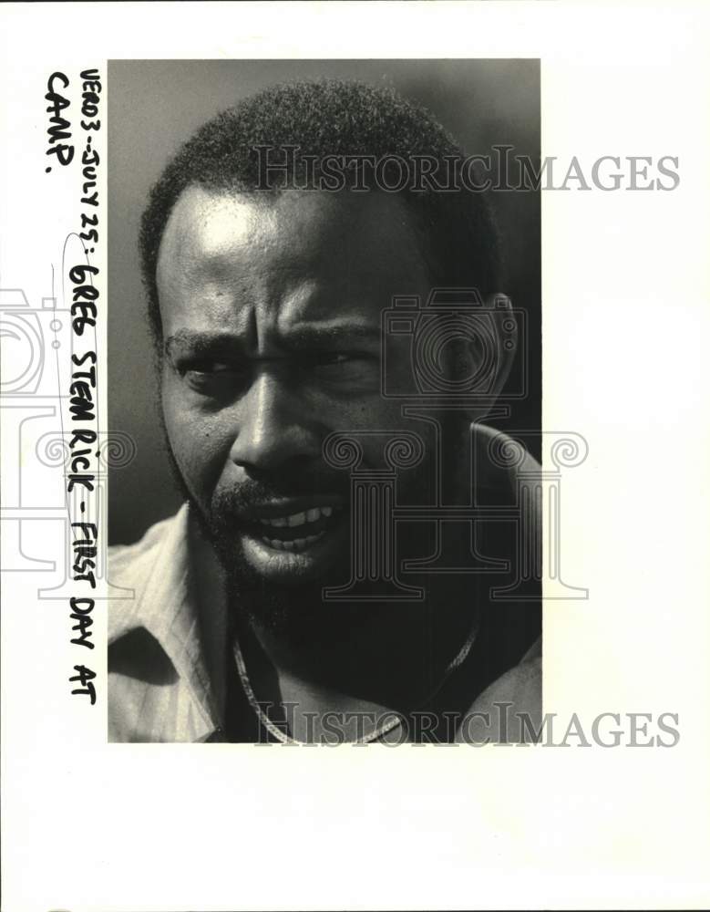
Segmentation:
<svg viewBox="0 0 710 912">
<path fill-rule="evenodd" d="M 112 61 L 108 68 L 109 426 L 135 441 L 135 458 L 112 472 L 109 542 L 136 541 L 174 513 L 159 399 L 140 284 L 136 239 L 149 187 L 180 143 L 205 120 L 259 88 L 289 79 L 356 78 L 424 105 L 468 154 L 511 145 L 540 155 L 537 60 Z M 493 194 L 505 256 L 501 289 L 527 312 L 528 396 L 507 432 L 540 429 L 540 194 Z M 491 422 L 495 423 L 495 422 Z M 530 438 L 526 436 L 530 448 Z M 533 455 L 539 455 L 532 447 Z"/>
</svg>

